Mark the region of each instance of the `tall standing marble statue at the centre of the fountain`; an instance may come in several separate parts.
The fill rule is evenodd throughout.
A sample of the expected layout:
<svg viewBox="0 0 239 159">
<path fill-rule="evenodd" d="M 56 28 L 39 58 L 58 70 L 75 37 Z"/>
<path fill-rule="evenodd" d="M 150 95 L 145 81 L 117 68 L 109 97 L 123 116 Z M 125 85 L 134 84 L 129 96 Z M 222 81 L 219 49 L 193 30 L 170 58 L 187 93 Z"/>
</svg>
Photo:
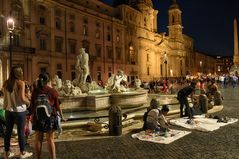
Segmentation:
<svg viewBox="0 0 239 159">
<path fill-rule="evenodd" d="M 80 48 L 79 55 L 76 61 L 76 70 L 79 71 L 79 84 L 85 84 L 86 78 L 90 74 L 89 70 L 89 55 L 85 52 L 85 48 Z"/>
</svg>

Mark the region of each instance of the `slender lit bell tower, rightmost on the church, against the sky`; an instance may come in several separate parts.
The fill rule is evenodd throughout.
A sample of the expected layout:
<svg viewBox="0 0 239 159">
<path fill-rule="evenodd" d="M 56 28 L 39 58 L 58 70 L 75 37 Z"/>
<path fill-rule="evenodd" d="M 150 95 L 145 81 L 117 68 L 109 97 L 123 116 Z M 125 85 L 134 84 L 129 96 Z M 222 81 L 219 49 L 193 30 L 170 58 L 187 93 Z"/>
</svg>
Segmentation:
<svg viewBox="0 0 239 159">
<path fill-rule="evenodd" d="M 179 8 L 176 0 L 173 0 L 173 4 L 168 10 L 168 34 L 172 39 L 180 39 L 183 34 L 182 26 L 182 11 Z"/>
</svg>

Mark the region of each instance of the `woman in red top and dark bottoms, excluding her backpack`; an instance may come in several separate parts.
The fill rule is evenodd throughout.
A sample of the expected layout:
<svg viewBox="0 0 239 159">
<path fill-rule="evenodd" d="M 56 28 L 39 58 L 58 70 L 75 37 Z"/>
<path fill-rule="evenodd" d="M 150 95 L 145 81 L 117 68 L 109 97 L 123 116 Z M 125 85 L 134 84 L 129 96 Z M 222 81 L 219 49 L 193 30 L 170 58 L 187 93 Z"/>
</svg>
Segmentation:
<svg viewBox="0 0 239 159">
<path fill-rule="evenodd" d="M 50 107 L 52 107 L 52 112 L 50 115 L 50 123 L 45 123 L 47 127 L 42 127 L 39 120 L 41 117 L 37 116 L 37 98 L 38 95 L 45 94 L 48 96 Z M 55 150 L 55 143 L 54 143 L 54 131 L 57 130 L 57 111 L 60 111 L 59 107 L 59 99 L 57 91 L 50 87 L 50 77 L 48 73 L 41 73 L 39 75 L 37 85 L 32 92 L 31 98 L 31 111 L 33 114 L 33 121 L 32 121 L 32 129 L 35 130 L 35 150 L 36 150 L 36 159 L 40 159 L 41 157 L 41 150 L 42 150 L 42 142 L 44 133 L 46 133 L 46 140 L 48 151 L 50 153 L 51 159 L 56 159 L 56 150 Z M 44 117 L 42 117 L 44 118 Z"/>
</svg>

